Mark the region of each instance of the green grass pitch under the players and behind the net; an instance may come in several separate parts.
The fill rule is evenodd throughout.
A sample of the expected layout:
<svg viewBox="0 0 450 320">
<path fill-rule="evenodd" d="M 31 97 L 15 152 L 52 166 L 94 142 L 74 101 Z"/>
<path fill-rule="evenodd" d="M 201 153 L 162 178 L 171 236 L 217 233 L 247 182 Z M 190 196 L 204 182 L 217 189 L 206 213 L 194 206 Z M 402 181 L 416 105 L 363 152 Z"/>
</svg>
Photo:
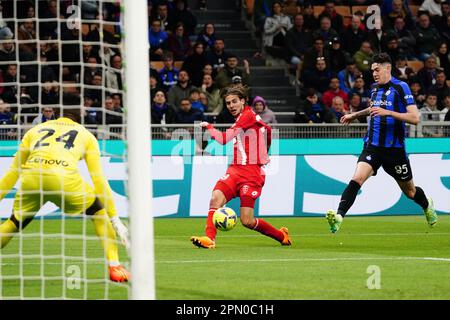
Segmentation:
<svg viewBox="0 0 450 320">
<path fill-rule="evenodd" d="M 282 247 L 238 224 L 218 233 L 216 249 L 198 249 L 189 237 L 203 234 L 204 218 L 156 219 L 157 298 L 450 299 L 450 215 L 441 215 L 433 229 L 423 216 L 350 216 L 335 235 L 324 218 L 266 220 L 287 226 L 293 245 Z M 82 226 L 82 220 L 67 219 L 65 233 L 77 235 Z M 44 240 L 31 236 L 40 231 Z M 90 223 L 86 231 L 93 235 Z M 3 249 L 1 274 L 9 278 L 3 279 L 2 298 L 126 299 L 127 285 L 106 280 L 98 240 L 66 239 L 63 246 L 54 235 L 60 232 L 60 220 L 33 221 L 22 240 L 22 263 L 15 255 L 18 239 Z M 64 264 L 63 254 L 70 256 Z M 69 266 L 78 266 L 88 281 L 74 288 Z M 14 279 L 20 274 L 22 280 Z"/>
</svg>

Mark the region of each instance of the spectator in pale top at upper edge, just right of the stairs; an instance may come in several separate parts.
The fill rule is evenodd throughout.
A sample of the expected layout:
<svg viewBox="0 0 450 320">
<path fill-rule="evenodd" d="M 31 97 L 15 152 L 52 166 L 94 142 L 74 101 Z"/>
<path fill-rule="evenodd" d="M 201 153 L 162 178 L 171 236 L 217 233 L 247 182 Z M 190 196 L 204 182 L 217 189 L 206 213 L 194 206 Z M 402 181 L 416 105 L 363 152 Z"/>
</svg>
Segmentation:
<svg viewBox="0 0 450 320">
<path fill-rule="evenodd" d="M 286 33 L 292 28 L 292 22 L 281 9 L 281 2 L 275 1 L 272 5 L 272 15 L 264 22 L 263 46 L 272 57 L 288 60 L 285 49 Z"/>
</svg>

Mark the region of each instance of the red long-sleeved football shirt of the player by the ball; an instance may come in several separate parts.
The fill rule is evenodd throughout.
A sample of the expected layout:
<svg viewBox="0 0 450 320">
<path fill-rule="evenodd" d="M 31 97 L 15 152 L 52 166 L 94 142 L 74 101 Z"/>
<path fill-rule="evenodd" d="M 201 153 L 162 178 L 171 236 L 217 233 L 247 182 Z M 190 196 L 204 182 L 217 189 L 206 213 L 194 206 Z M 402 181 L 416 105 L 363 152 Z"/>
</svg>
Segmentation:
<svg viewBox="0 0 450 320">
<path fill-rule="evenodd" d="M 211 137 L 220 144 L 233 140 L 233 165 L 259 165 L 269 163 L 268 150 L 272 143 L 272 128 L 264 123 L 249 106 L 236 118 L 236 122 L 220 132 L 212 124 L 207 127 Z"/>
</svg>

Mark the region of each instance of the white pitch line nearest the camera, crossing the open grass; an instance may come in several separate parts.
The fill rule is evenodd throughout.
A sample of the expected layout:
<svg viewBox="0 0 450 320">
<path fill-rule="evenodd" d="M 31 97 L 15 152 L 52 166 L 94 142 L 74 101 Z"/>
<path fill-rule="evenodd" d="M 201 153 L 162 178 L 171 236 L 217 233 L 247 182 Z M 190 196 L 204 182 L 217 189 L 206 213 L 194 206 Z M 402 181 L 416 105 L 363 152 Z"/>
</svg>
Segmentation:
<svg viewBox="0 0 450 320">
<path fill-rule="evenodd" d="M 156 263 L 163 264 L 189 264 L 189 263 L 227 263 L 227 262 L 329 262 L 329 261 L 366 261 L 366 260 L 422 260 L 422 261 L 443 261 L 450 262 L 450 258 L 435 257 L 360 257 L 360 258 L 299 258 L 299 259 L 237 259 L 237 260 L 163 260 Z"/>
</svg>

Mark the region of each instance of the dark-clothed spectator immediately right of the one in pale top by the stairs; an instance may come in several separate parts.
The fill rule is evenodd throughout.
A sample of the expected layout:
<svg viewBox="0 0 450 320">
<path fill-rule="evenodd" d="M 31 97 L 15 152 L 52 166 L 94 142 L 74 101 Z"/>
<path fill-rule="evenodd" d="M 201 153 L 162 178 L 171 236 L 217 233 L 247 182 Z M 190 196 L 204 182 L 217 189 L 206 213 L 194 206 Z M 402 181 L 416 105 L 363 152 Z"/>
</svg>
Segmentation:
<svg viewBox="0 0 450 320">
<path fill-rule="evenodd" d="M 295 15 L 294 26 L 286 34 L 286 48 L 288 50 L 288 62 L 299 66 L 306 50 L 312 44 L 311 33 L 303 28 L 304 19 L 301 14 Z"/>
</svg>

